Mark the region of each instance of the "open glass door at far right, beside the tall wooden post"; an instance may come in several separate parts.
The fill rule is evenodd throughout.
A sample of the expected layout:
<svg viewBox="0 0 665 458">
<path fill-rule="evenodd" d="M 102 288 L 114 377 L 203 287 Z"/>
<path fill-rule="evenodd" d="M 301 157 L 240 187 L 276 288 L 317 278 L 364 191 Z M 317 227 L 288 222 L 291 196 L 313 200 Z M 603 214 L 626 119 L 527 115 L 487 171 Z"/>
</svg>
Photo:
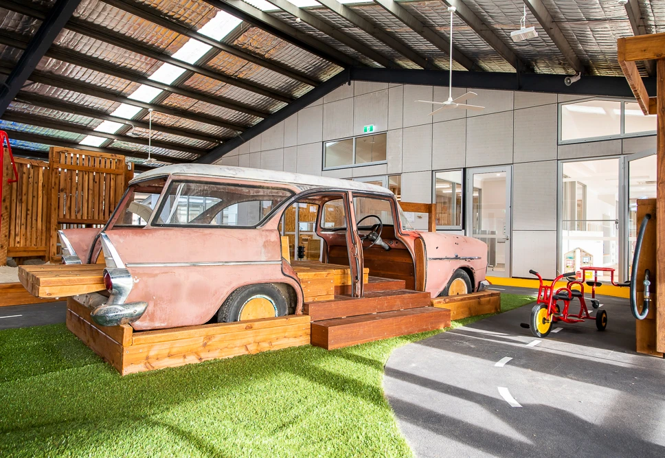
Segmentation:
<svg viewBox="0 0 665 458">
<path fill-rule="evenodd" d="M 627 237 L 624 236 L 623 240 L 628 240 L 628 243 L 624 247 L 627 259 L 622 264 L 627 265 L 624 279 L 629 279 L 633 267 L 638 226 L 640 225 L 640 221 L 637 221 L 638 199 L 656 198 L 657 163 L 655 150 L 631 154 L 625 157 L 625 161 L 626 179 L 624 183 L 626 183 L 628 205 L 627 215 L 624 215 L 627 221 Z"/>
</svg>

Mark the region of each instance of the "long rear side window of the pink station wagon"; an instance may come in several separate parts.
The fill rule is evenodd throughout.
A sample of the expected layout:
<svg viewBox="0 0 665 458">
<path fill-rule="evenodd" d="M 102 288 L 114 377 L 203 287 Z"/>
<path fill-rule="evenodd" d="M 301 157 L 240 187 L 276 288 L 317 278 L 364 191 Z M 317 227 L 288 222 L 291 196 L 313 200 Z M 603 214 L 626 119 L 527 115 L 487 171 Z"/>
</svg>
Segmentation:
<svg viewBox="0 0 665 458">
<path fill-rule="evenodd" d="M 280 188 L 174 181 L 153 224 L 255 227 L 292 195 Z"/>
</svg>

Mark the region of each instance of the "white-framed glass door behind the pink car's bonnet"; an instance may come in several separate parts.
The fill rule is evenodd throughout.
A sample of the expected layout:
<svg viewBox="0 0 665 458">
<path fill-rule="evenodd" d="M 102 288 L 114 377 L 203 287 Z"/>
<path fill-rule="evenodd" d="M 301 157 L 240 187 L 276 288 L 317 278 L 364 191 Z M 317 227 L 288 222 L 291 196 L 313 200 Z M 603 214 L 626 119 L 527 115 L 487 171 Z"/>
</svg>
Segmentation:
<svg viewBox="0 0 665 458">
<path fill-rule="evenodd" d="M 512 167 L 466 170 L 466 235 L 487 244 L 487 275 L 510 277 Z"/>
</svg>

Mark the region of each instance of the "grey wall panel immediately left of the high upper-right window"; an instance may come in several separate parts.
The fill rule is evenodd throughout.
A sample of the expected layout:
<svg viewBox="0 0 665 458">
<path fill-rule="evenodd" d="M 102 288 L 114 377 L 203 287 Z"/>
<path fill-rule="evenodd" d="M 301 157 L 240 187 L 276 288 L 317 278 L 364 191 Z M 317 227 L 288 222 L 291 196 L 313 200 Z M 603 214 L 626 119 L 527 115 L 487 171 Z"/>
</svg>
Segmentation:
<svg viewBox="0 0 665 458">
<path fill-rule="evenodd" d="M 515 162 L 556 159 L 556 104 L 515 110 Z"/>
</svg>

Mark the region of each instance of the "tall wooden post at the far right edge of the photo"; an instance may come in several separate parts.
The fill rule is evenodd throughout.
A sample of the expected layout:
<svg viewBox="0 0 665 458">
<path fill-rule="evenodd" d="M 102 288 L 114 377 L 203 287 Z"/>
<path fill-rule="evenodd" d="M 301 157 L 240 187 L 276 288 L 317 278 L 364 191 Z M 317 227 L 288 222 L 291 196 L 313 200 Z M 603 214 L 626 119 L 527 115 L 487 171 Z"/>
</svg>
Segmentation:
<svg viewBox="0 0 665 458">
<path fill-rule="evenodd" d="M 662 52 L 662 49 L 661 49 Z M 665 304 L 665 58 L 656 64 L 656 114 L 657 114 L 657 277 L 656 303 Z M 665 306 L 656 314 L 656 350 L 665 353 Z"/>
</svg>

